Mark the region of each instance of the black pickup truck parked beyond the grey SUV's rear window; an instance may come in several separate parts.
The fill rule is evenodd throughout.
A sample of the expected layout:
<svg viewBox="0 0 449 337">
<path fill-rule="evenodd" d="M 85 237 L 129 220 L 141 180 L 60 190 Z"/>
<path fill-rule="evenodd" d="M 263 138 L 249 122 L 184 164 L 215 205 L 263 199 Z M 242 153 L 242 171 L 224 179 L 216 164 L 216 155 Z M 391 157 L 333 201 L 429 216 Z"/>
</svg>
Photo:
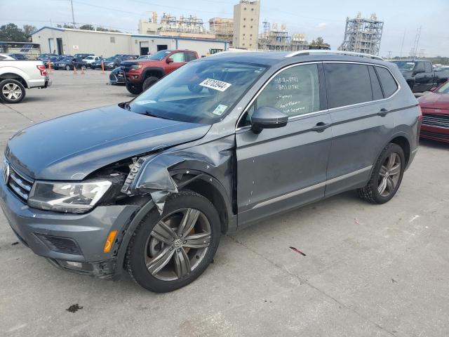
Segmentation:
<svg viewBox="0 0 449 337">
<path fill-rule="evenodd" d="M 449 72 L 436 72 L 428 60 L 394 60 L 410 89 L 422 93 L 448 80 Z"/>
</svg>

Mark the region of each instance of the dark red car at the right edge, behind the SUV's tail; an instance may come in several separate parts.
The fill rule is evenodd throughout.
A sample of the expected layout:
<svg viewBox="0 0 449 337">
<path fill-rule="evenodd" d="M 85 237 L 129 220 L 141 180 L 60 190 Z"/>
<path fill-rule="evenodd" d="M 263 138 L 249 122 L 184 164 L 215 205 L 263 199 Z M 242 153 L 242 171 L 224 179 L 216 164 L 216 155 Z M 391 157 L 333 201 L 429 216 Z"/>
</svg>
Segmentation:
<svg viewBox="0 0 449 337">
<path fill-rule="evenodd" d="M 449 143 L 449 81 L 420 98 L 421 138 Z"/>
</svg>

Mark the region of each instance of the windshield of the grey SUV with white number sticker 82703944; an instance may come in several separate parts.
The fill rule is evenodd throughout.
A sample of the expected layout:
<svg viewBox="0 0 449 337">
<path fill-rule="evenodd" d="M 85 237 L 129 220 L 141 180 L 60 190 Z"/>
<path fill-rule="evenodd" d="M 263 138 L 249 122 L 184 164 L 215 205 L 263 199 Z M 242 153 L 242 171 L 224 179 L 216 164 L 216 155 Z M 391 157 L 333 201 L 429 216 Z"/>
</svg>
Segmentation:
<svg viewBox="0 0 449 337">
<path fill-rule="evenodd" d="M 130 102 L 130 110 L 154 117 L 213 124 L 263 74 L 266 67 L 240 62 L 192 62 L 156 82 Z"/>
</svg>

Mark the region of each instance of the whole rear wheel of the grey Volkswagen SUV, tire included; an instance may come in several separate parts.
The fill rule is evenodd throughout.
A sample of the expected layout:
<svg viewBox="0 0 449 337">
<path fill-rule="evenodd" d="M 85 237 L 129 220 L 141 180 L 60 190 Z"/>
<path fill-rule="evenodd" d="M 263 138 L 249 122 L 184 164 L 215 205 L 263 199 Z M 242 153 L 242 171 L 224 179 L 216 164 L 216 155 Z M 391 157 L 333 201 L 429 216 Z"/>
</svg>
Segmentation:
<svg viewBox="0 0 449 337">
<path fill-rule="evenodd" d="M 402 147 L 389 143 L 377 159 L 368 184 L 357 190 L 358 196 L 373 204 L 384 204 L 391 200 L 401 185 L 405 168 Z"/>
</svg>

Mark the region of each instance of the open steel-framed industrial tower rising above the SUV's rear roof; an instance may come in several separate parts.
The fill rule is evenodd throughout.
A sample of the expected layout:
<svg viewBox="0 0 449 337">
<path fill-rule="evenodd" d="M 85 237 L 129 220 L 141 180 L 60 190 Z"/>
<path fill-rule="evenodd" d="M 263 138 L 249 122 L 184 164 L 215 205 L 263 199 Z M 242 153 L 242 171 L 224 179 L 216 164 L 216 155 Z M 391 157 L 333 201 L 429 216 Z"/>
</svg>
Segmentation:
<svg viewBox="0 0 449 337">
<path fill-rule="evenodd" d="M 354 51 L 379 55 L 380 41 L 384 22 L 377 20 L 375 13 L 369 19 L 362 18 L 358 12 L 356 18 L 346 19 L 344 40 L 338 48 L 340 51 Z"/>
</svg>

